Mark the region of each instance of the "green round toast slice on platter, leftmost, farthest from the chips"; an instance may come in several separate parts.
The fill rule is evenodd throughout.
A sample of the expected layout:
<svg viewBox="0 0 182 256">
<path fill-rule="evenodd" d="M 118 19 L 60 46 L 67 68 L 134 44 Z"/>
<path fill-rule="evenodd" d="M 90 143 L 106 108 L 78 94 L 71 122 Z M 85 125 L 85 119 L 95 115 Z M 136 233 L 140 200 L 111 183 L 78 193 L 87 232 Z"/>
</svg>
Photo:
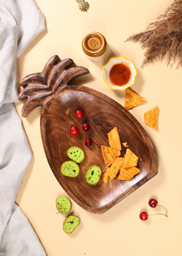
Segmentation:
<svg viewBox="0 0 182 256">
<path fill-rule="evenodd" d="M 74 161 L 66 161 L 61 166 L 61 172 L 64 176 L 76 177 L 80 172 L 80 167 Z"/>
</svg>

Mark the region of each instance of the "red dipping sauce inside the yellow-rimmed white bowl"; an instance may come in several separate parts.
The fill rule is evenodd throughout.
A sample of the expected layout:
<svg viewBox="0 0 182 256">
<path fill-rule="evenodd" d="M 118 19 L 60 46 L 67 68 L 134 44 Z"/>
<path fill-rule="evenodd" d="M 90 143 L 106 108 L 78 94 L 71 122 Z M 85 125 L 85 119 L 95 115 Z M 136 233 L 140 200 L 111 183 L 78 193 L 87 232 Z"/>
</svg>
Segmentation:
<svg viewBox="0 0 182 256">
<path fill-rule="evenodd" d="M 132 72 L 127 64 L 114 64 L 109 71 L 109 80 L 114 85 L 122 86 L 129 82 L 131 74 Z"/>
</svg>

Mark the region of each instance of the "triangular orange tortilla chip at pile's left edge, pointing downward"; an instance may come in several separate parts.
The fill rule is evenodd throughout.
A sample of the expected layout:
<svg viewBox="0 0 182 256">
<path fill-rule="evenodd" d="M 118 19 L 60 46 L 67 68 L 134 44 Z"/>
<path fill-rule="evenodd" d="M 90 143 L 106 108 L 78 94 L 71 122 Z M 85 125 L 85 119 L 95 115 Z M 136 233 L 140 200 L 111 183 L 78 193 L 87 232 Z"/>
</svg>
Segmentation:
<svg viewBox="0 0 182 256">
<path fill-rule="evenodd" d="M 106 167 L 112 164 L 115 156 L 120 157 L 120 151 L 106 145 L 101 145 L 101 152 Z"/>
</svg>

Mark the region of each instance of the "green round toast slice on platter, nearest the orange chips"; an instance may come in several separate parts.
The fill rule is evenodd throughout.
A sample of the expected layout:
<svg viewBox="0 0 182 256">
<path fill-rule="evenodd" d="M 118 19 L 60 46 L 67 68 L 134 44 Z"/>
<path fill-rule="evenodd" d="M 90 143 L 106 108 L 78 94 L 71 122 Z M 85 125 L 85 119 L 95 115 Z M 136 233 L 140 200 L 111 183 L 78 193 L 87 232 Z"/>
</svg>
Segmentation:
<svg viewBox="0 0 182 256">
<path fill-rule="evenodd" d="M 89 185 L 96 185 L 101 178 L 101 168 L 98 166 L 91 166 L 86 172 L 85 178 Z"/>
</svg>

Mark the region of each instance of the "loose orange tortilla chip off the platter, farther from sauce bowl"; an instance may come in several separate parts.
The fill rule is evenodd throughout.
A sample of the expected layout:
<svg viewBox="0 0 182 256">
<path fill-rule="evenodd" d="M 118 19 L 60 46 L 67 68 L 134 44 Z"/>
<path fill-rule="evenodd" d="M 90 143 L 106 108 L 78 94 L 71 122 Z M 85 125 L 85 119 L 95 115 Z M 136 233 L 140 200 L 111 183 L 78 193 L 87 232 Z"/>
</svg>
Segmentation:
<svg viewBox="0 0 182 256">
<path fill-rule="evenodd" d="M 144 114 L 144 123 L 156 131 L 158 130 L 158 119 L 159 119 L 159 107 L 156 107 L 151 111 L 147 111 Z"/>
</svg>

